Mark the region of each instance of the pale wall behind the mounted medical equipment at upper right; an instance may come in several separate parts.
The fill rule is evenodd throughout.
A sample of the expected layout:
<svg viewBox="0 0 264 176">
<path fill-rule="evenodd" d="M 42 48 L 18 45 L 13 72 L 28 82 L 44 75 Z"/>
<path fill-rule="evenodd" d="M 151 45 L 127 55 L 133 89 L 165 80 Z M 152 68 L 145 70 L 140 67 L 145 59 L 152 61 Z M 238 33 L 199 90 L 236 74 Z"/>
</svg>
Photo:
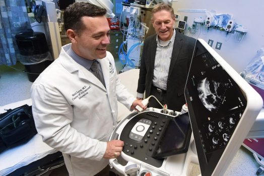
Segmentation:
<svg viewBox="0 0 264 176">
<path fill-rule="evenodd" d="M 208 11 L 214 10 L 216 14 L 230 14 L 233 15 L 233 20 L 239 25 L 243 25 L 248 29 L 247 34 L 241 43 L 235 41 L 235 34 L 228 34 L 226 37 L 225 31 L 215 30 L 202 26 L 202 30 L 197 30 L 195 34 L 191 34 L 188 30 L 184 31 L 185 35 L 193 38 L 202 38 L 206 42 L 209 39 L 214 40 L 212 48 L 215 49 L 216 43 L 221 42 L 221 50 L 215 49 L 237 72 L 242 71 L 247 64 L 252 60 L 257 50 L 264 47 L 264 1 L 197 1 L 197 0 L 179 0 L 172 4 L 174 14 L 180 16 L 181 21 L 184 16 L 187 16 L 187 27 L 191 27 L 194 18 L 202 17 L 206 19 L 206 13 L 199 12 L 178 12 L 178 10 L 186 9 L 206 9 Z M 176 22 L 175 27 L 178 26 Z M 198 25 L 200 26 L 200 25 Z M 230 37 L 230 38 L 228 38 Z"/>
</svg>

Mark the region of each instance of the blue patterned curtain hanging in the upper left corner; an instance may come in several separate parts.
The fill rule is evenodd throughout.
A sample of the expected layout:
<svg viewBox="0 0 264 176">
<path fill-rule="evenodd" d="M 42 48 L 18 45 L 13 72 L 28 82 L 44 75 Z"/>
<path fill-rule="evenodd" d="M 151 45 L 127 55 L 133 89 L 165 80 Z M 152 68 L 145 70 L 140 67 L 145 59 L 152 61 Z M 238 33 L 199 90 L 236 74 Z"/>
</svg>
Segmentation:
<svg viewBox="0 0 264 176">
<path fill-rule="evenodd" d="M 20 59 L 15 36 L 32 31 L 25 0 L 0 0 L 0 65 L 15 65 Z"/>
</svg>

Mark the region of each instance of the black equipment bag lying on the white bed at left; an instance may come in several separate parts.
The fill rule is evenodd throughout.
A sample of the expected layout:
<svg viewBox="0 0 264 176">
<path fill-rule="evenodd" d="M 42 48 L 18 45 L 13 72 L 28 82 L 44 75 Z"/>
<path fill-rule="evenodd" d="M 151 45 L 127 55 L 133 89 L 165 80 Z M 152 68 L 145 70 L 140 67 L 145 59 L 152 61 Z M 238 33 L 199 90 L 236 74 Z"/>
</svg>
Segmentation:
<svg viewBox="0 0 264 176">
<path fill-rule="evenodd" d="M 23 105 L 0 114 L 0 152 L 29 141 L 35 134 L 31 106 Z"/>
</svg>

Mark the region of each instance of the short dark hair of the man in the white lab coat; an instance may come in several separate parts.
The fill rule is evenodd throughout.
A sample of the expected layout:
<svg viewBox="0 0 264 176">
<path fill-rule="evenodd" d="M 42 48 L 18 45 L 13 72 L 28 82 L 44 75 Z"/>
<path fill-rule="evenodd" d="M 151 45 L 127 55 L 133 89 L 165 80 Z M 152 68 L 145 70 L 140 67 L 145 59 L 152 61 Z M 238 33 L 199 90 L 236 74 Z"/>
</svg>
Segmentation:
<svg viewBox="0 0 264 176">
<path fill-rule="evenodd" d="M 77 34 L 80 34 L 85 29 L 82 17 L 99 17 L 104 16 L 105 14 L 105 9 L 90 3 L 80 2 L 71 4 L 63 13 L 65 31 L 72 29 Z"/>
</svg>

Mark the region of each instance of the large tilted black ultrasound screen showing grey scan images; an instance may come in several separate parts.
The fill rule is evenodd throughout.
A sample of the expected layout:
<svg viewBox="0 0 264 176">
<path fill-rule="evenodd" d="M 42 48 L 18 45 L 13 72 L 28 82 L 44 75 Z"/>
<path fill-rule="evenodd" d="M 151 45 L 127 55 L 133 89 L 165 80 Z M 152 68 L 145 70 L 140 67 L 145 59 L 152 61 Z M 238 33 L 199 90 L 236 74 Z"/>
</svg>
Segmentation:
<svg viewBox="0 0 264 176">
<path fill-rule="evenodd" d="M 197 40 L 185 98 L 202 174 L 211 175 L 246 107 L 237 83 Z M 209 169 L 212 168 L 212 169 Z"/>
</svg>

